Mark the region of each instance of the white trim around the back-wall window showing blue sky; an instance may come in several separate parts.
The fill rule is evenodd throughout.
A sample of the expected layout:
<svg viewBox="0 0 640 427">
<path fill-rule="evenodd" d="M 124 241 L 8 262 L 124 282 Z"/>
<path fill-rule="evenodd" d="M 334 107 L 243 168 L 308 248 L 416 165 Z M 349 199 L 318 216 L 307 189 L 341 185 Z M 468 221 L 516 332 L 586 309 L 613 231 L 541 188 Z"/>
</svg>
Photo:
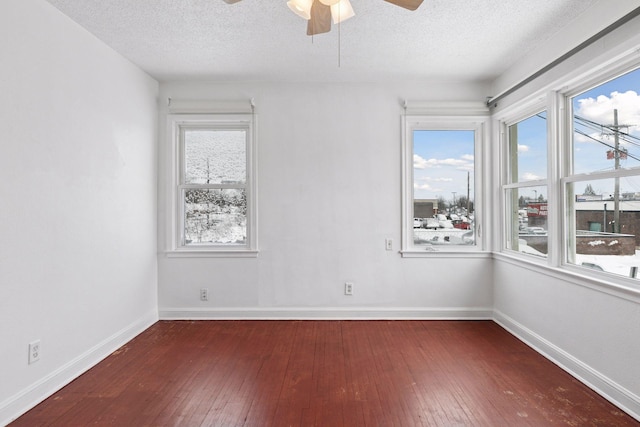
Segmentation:
<svg viewBox="0 0 640 427">
<path fill-rule="evenodd" d="M 402 242 L 400 253 L 404 258 L 455 256 L 477 254 L 486 250 L 484 237 L 485 168 L 489 114 L 486 106 L 472 103 L 423 104 L 417 108 L 405 106 L 402 117 Z M 473 246 L 446 246 L 435 249 L 431 246 L 413 244 L 413 132 L 415 130 L 472 130 L 474 143 L 474 216 L 476 222 L 476 244 Z"/>
</svg>

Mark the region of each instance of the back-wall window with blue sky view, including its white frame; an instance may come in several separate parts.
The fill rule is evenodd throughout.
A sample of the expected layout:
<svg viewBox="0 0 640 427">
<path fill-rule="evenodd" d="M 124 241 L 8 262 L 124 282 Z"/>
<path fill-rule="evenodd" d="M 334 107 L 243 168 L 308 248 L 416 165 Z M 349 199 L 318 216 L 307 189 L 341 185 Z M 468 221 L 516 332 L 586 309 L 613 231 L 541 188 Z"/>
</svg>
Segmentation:
<svg viewBox="0 0 640 427">
<path fill-rule="evenodd" d="M 478 249 L 476 165 L 484 120 L 405 117 L 404 255 Z"/>
</svg>

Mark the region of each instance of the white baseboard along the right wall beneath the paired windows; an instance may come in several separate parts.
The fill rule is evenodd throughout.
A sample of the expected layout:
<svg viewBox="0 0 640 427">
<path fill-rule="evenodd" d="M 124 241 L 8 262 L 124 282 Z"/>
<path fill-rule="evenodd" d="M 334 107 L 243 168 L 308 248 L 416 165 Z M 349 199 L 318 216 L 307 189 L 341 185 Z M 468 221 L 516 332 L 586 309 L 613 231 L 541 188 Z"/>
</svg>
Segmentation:
<svg viewBox="0 0 640 427">
<path fill-rule="evenodd" d="M 504 313 L 495 310 L 493 320 L 529 347 L 640 421 L 640 396 L 627 390 Z"/>
</svg>

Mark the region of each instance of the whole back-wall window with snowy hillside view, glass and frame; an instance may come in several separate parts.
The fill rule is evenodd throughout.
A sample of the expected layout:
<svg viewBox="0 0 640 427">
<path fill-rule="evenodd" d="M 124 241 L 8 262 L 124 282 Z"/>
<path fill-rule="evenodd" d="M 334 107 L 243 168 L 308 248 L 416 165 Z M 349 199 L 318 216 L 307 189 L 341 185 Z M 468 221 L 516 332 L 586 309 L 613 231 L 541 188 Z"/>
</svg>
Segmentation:
<svg viewBox="0 0 640 427">
<path fill-rule="evenodd" d="M 256 250 L 252 115 L 172 115 L 172 247 L 228 255 Z"/>
</svg>

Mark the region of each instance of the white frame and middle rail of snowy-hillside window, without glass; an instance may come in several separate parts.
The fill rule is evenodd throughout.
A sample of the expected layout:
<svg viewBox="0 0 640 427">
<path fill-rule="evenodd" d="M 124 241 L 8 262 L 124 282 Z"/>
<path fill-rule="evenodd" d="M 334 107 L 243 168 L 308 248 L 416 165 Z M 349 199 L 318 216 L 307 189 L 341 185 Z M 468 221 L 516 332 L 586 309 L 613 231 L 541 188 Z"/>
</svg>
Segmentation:
<svg viewBox="0 0 640 427">
<path fill-rule="evenodd" d="M 258 255 L 257 231 L 257 151 L 256 122 L 254 113 L 211 113 L 167 115 L 171 180 L 169 183 L 167 230 L 167 256 L 169 257 L 256 257 Z M 187 184 L 185 183 L 186 130 L 243 130 L 246 132 L 246 180 L 244 184 Z M 239 189 L 246 192 L 246 241 L 244 244 L 199 244 L 184 243 L 184 192 L 188 189 Z"/>
</svg>

